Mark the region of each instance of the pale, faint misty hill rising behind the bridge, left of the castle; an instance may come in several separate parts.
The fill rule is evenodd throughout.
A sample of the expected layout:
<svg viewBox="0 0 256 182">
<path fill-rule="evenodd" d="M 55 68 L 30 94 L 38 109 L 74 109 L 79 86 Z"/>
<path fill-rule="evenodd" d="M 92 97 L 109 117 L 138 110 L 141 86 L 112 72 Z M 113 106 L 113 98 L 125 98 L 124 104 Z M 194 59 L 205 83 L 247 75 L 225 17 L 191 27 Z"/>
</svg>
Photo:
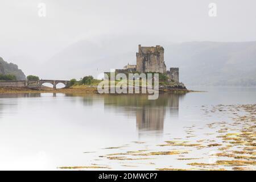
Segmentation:
<svg viewBox="0 0 256 182">
<path fill-rule="evenodd" d="M 111 68 L 123 68 L 128 62 L 135 63 L 135 50 L 130 51 L 126 48 L 127 46 L 116 47 L 111 43 L 96 44 L 82 40 L 53 56 L 44 64 L 46 68 L 42 69 L 42 72 L 47 69 L 50 73 L 47 78 L 56 79 L 80 78 L 85 75 L 93 75 L 97 78 L 100 73 Z"/>
</svg>

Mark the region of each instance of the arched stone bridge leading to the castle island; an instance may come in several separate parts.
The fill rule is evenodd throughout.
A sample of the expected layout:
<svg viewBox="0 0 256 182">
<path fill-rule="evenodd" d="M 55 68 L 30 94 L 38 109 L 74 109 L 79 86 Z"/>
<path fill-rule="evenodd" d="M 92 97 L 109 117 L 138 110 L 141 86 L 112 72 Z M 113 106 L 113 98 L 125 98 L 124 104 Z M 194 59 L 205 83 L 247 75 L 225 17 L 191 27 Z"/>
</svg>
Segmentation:
<svg viewBox="0 0 256 182">
<path fill-rule="evenodd" d="M 13 86 L 13 87 L 41 87 L 44 83 L 53 85 L 56 89 L 56 85 L 63 83 L 65 87 L 69 87 L 70 81 L 68 80 L 19 80 L 19 81 L 0 81 L 0 86 Z"/>
</svg>

